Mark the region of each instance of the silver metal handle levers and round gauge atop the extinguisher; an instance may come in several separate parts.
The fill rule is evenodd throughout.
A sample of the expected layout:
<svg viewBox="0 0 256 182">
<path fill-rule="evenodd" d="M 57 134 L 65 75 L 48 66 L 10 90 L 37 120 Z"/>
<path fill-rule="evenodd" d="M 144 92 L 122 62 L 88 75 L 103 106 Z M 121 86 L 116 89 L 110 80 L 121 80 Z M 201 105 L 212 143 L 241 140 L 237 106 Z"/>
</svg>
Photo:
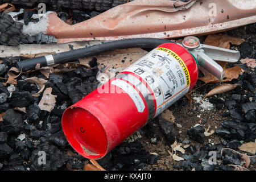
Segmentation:
<svg viewBox="0 0 256 182">
<path fill-rule="evenodd" d="M 200 40 L 195 36 L 185 37 L 182 46 L 189 49 L 201 67 L 212 73 L 220 81 L 222 81 L 224 70 L 214 60 L 235 63 L 240 59 L 239 51 L 200 44 Z"/>
</svg>

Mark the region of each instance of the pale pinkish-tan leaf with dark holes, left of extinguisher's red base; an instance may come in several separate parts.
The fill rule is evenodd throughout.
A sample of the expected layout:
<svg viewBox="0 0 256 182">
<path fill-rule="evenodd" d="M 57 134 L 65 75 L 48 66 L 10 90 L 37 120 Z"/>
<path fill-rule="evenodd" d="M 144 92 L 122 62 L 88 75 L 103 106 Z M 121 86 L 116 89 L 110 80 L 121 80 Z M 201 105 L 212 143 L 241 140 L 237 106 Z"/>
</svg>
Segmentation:
<svg viewBox="0 0 256 182">
<path fill-rule="evenodd" d="M 56 97 L 55 95 L 51 94 L 52 93 L 52 88 L 46 88 L 43 93 L 43 97 L 41 101 L 39 102 L 38 106 L 40 107 L 41 110 L 46 110 L 48 112 L 51 112 L 52 109 L 54 109 L 55 102 L 56 102 Z"/>
</svg>

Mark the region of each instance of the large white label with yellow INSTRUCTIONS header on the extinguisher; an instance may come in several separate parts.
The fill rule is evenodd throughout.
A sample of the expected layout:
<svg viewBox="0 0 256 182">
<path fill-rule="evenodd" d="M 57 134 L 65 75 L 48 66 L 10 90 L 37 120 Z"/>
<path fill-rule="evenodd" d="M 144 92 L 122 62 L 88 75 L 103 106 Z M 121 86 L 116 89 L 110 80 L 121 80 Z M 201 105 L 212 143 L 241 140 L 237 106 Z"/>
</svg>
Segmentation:
<svg viewBox="0 0 256 182">
<path fill-rule="evenodd" d="M 154 92 L 155 117 L 183 97 L 191 82 L 184 61 L 175 52 L 162 47 L 155 48 L 125 71 L 142 77 Z"/>
</svg>

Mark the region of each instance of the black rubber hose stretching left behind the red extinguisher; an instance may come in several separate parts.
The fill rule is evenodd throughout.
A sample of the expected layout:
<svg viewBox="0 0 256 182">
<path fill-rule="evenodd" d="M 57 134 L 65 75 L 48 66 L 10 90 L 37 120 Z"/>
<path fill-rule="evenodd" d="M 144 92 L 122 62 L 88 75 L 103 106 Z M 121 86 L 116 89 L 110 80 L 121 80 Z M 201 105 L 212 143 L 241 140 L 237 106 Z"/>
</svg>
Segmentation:
<svg viewBox="0 0 256 182">
<path fill-rule="evenodd" d="M 154 38 L 138 38 L 138 39 L 123 39 L 123 40 L 115 40 L 113 42 L 106 42 L 102 44 L 97 44 L 94 46 L 89 46 L 85 48 L 75 49 L 72 51 L 56 53 L 52 55 L 54 64 L 60 63 L 68 63 L 70 61 L 74 61 L 85 56 L 94 56 L 99 53 L 106 51 L 114 51 L 116 49 L 124 49 L 124 48 L 155 48 L 160 44 L 164 43 L 175 43 L 166 39 L 154 39 Z M 17 63 L 19 70 L 26 72 L 31 69 L 35 69 L 36 65 L 40 64 L 40 68 L 46 67 L 47 59 L 46 56 L 36 57 L 34 59 L 28 59 L 24 61 L 19 61 Z"/>
</svg>

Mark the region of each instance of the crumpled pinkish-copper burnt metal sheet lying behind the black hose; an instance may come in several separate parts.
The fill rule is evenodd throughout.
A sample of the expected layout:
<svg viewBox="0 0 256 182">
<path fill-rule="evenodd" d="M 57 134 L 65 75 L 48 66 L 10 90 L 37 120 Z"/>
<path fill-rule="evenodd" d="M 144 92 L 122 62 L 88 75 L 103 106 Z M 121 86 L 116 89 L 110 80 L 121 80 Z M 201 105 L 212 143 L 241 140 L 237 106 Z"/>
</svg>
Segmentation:
<svg viewBox="0 0 256 182">
<path fill-rule="evenodd" d="M 69 25 L 48 14 L 47 34 L 59 43 L 77 40 L 177 38 L 229 30 L 256 22 L 256 0 L 135 0 Z"/>
</svg>

